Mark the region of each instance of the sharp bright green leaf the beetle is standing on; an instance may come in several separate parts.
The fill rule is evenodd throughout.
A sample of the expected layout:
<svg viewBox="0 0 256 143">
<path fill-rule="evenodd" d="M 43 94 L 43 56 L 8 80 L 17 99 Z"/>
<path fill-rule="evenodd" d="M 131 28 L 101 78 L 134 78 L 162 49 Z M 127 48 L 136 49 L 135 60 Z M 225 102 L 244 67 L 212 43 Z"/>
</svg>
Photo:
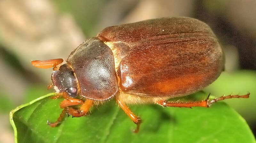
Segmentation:
<svg viewBox="0 0 256 143">
<path fill-rule="evenodd" d="M 197 93 L 201 94 L 201 93 Z M 136 105 L 131 110 L 140 115 L 143 123 L 139 133 L 136 125 L 111 100 L 92 108 L 91 115 L 66 117 L 57 127 L 54 122 L 61 113 L 63 99 L 50 99 L 47 94 L 10 113 L 15 141 L 19 143 L 65 142 L 241 142 L 255 143 L 245 120 L 224 102 L 210 108 L 163 108 L 159 105 Z M 207 95 L 205 95 L 207 96 Z"/>
</svg>

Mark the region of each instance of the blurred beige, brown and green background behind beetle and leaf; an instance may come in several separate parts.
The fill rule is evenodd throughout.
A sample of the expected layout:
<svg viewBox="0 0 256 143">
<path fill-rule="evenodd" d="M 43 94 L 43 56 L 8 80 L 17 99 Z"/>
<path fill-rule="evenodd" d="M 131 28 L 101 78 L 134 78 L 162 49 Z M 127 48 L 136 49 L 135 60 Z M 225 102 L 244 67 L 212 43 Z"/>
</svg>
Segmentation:
<svg viewBox="0 0 256 143">
<path fill-rule="evenodd" d="M 9 112 L 52 92 L 51 69 L 31 60 L 67 59 L 86 38 L 103 28 L 160 17 L 193 17 L 207 23 L 226 53 L 226 71 L 206 92 L 246 94 L 234 107 L 256 133 L 255 0 L 1 0 L 0 142 L 14 142 Z"/>
</svg>

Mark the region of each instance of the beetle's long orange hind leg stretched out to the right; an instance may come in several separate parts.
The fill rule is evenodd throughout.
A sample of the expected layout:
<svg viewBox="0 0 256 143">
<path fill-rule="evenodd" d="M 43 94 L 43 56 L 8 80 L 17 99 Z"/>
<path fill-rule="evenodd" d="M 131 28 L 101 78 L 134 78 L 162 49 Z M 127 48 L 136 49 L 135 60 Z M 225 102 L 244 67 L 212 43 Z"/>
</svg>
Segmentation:
<svg viewBox="0 0 256 143">
<path fill-rule="evenodd" d="M 228 98 L 249 98 L 250 93 L 246 94 L 246 95 L 228 95 L 228 96 L 221 96 L 217 99 L 211 99 L 209 100 L 209 96 L 207 97 L 207 99 L 203 100 L 203 101 L 195 101 L 195 102 L 169 102 L 169 101 L 165 101 L 165 100 L 160 100 L 157 102 L 157 104 L 163 106 L 163 107 L 209 107 L 212 103 L 220 101 L 220 100 L 224 100 L 224 99 L 228 99 Z"/>
</svg>

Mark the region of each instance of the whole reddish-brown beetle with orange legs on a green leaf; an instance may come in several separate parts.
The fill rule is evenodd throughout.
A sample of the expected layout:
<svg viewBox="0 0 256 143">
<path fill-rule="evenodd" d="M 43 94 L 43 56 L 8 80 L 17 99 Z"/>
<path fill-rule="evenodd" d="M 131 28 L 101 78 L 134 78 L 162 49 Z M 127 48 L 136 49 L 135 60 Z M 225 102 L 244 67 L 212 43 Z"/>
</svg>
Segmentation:
<svg viewBox="0 0 256 143">
<path fill-rule="evenodd" d="M 137 125 L 141 120 L 128 104 L 159 104 L 163 107 L 209 107 L 228 95 L 195 102 L 170 102 L 215 81 L 224 67 L 224 55 L 211 28 L 200 20 L 170 17 L 111 26 L 80 44 L 62 59 L 34 60 L 37 68 L 53 68 L 52 86 L 64 98 L 64 110 L 55 127 L 67 113 L 87 114 L 90 107 L 111 98 Z M 209 97 L 209 96 L 208 96 Z M 73 106 L 80 105 L 79 109 Z"/>
</svg>

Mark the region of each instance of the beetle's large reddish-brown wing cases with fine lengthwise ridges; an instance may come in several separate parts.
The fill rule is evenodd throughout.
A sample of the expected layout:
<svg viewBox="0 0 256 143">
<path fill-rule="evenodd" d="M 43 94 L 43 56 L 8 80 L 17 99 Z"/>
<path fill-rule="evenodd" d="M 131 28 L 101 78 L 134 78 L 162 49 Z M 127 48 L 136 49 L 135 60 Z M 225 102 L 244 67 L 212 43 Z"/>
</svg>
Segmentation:
<svg viewBox="0 0 256 143">
<path fill-rule="evenodd" d="M 192 18 L 161 18 L 108 27 L 98 37 L 120 51 L 125 47 L 120 86 L 122 91 L 137 96 L 187 95 L 212 83 L 223 68 L 221 47 L 211 28 Z"/>
</svg>

